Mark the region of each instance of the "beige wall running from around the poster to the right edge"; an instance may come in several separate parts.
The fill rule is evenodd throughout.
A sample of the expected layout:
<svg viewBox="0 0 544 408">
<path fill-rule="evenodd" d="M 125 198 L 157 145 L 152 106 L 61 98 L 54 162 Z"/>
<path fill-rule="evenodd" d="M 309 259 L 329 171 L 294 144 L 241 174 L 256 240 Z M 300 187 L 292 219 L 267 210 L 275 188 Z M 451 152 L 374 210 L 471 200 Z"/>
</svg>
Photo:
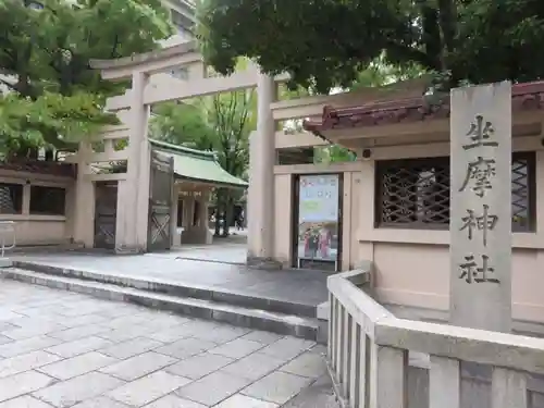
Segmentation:
<svg viewBox="0 0 544 408">
<path fill-rule="evenodd" d="M 544 150 L 541 136 L 516 137 L 515 151 L 536 151 L 536 213 L 534 233 L 514 234 L 514 318 L 544 322 Z M 373 159 L 448 156 L 447 143 L 381 147 Z M 330 166 L 275 166 L 275 254 L 290 264 L 292 178 L 295 174 L 344 174 L 343 269 L 362 260 L 375 265 L 375 288 L 388 304 L 447 310 L 449 300 L 449 232 L 374 227 L 374 160 Z M 288 222 L 289 221 L 289 222 Z"/>
</svg>

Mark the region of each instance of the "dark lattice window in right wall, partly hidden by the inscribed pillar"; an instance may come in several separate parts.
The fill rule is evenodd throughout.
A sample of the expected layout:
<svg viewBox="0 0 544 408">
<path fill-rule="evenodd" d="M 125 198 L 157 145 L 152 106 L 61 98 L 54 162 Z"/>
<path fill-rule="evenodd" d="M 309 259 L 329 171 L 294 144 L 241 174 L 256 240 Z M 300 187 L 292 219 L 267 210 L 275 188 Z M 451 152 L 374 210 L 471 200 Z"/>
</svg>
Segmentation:
<svg viewBox="0 0 544 408">
<path fill-rule="evenodd" d="M 534 153 L 512 157 L 512 231 L 535 230 Z M 449 158 L 378 162 L 376 226 L 447 228 Z"/>
</svg>

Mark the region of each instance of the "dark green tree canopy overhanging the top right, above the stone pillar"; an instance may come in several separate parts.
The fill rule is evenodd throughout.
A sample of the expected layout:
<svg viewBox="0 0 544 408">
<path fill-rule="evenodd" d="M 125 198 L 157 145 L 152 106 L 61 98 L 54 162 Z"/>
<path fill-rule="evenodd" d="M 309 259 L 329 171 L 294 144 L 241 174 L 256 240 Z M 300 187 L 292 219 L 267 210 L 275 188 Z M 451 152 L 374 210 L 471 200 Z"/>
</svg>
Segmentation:
<svg viewBox="0 0 544 408">
<path fill-rule="evenodd" d="M 220 73 L 245 55 L 321 92 L 382 54 L 448 86 L 544 76 L 542 0 L 202 0 L 199 22 Z"/>
</svg>

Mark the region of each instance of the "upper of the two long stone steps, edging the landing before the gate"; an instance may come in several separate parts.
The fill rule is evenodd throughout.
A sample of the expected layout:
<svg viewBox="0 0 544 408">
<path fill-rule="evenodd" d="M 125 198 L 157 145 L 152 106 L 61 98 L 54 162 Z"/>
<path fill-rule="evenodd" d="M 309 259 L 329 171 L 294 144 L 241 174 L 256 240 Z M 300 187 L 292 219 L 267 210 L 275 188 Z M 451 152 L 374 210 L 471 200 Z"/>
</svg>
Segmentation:
<svg viewBox="0 0 544 408">
<path fill-rule="evenodd" d="M 209 300 L 219 304 L 227 304 L 244 308 L 259 309 L 270 312 L 293 314 L 312 319 L 317 317 L 317 307 L 314 305 L 293 302 L 269 297 L 259 297 L 225 288 L 184 284 L 178 281 L 166 282 L 152 277 L 133 277 L 122 274 L 113 275 L 110 273 L 106 274 L 97 271 L 82 271 L 20 260 L 13 261 L 13 265 L 23 270 L 40 272 L 49 275 L 107 283 L 122 287 L 133 287 L 140 290 L 171 296 Z"/>
</svg>

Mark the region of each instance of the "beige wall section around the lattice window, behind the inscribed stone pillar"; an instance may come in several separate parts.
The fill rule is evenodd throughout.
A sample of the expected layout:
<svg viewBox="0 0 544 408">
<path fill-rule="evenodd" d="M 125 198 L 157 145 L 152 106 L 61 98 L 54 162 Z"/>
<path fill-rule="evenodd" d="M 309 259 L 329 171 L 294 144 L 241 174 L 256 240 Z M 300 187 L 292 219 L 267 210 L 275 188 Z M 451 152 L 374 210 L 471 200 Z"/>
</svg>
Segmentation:
<svg viewBox="0 0 544 408">
<path fill-rule="evenodd" d="M 418 152 L 403 147 L 376 149 L 383 159 L 447 156 L 448 146 L 420 146 Z M 536 213 L 544 214 L 544 151 L 540 136 L 516 138 L 515 151 L 536 150 Z M 417 150 L 417 149 L 413 149 Z M 425 154 L 426 153 L 426 154 Z M 449 232 L 401 228 L 374 228 L 374 165 L 368 162 L 361 176 L 367 180 L 368 194 L 354 240 L 359 243 L 360 257 L 374 261 L 376 294 L 382 301 L 406 306 L 447 310 L 449 305 Z M 544 227 L 537 223 L 534 233 L 515 233 L 512 237 L 512 316 L 516 319 L 544 322 L 544 297 L 540 294 L 544 275 Z"/>
</svg>

